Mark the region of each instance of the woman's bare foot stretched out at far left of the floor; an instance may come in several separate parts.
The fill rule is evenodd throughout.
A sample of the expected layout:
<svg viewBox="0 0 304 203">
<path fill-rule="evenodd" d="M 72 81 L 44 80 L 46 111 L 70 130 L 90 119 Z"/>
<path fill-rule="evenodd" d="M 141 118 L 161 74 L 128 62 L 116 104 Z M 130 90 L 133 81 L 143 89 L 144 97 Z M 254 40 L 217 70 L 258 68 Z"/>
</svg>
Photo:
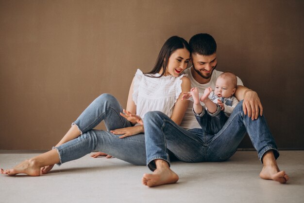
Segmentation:
<svg viewBox="0 0 304 203">
<path fill-rule="evenodd" d="M 29 176 L 39 176 L 40 166 L 34 160 L 25 160 L 12 169 L 3 170 L 1 168 L 1 174 L 13 176 L 18 173 L 25 173 Z"/>
</svg>

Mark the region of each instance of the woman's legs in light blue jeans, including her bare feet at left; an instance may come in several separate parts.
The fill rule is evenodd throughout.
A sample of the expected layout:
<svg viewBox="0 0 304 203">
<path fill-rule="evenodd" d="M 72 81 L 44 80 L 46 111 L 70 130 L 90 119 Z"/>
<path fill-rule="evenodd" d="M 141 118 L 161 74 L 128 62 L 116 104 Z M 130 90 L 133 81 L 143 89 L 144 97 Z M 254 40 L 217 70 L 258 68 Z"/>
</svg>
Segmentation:
<svg viewBox="0 0 304 203">
<path fill-rule="evenodd" d="M 68 161 L 74 160 L 90 153 L 93 149 L 104 149 L 104 152 L 108 152 L 113 155 L 116 154 L 116 157 L 121 157 L 122 159 L 134 164 L 143 163 L 145 161 L 145 153 L 142 153 L 144 158 L 139 157 L 139 161 L 137 162 L 136 160 L 129 158 L 132 157 L 132 155 L 128 157 L 128 153 L 124 153 L 119 149 L 116 150 L 116 148 L 121 144 L 125 146 L 130 144 L 130 146 L 134 146 L 136 143 L 139 150 L 145 152 L 143 135 L 136 136 L 136 139 L 133 139 L 134 141 L 130 139 L 122 140 L 108 131 L 91 130 L 102 120 L 104 120 L 108 130 L 130 127 L 130 122 L 120 116 L 119 112 L 122 112 L 122 108 L 116 98 L 110 94 L 101 94 L 101 96 L 96 98 L 84 110 L 84 112 L 75 121 L 74 124 L 76 125 L 72 125 L 66 135 L 55 146 L 57 149 L 52 149 L 51 151 L 33 157 L 29 160 L 25 160 L 12 169 L 1 169 L 0 173 L 7 175 L 25 173 L 30 176 L 38 176 L 40 173 L 47 173 L 50 171 L 54 164 L 61 163 L 61 158 Z M 82 133 L 84 133 L 85 136 L 81 135 Z M 83 148 L 77 147 L 80 143 Z M 64 147 L 62 147 L 63 145 Z M 65 148 L 72 148 L 74 150 L 73 145 L 74 148 L 76 148 L 75 151 L 69 152 L 68 150 L 64 150 Z M 59 153 L 58 148 L 61 148 L 62 151 L 65 152 L 64 155 Z M 121 152 L 121 154 L 118 152 Z M 76 154 L 77 156 L 75 156 Z M 144 159 L 144 161 L 142 161 L 142 159 Z"/>
</svg>

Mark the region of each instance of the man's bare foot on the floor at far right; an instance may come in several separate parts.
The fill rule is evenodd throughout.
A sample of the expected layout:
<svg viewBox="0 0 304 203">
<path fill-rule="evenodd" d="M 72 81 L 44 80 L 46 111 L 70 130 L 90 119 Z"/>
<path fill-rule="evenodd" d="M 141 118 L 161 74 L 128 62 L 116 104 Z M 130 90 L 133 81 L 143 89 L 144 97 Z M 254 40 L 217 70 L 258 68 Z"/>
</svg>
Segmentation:
<svg viewBox="0 0 304 203">
<path fill-rule="evenodd" d="M 266 180 L 274 180 L 279 183 L 286 183 L 289 180 L 284 170 L 280 171 L 277 166 L 263 166 L 260 177 Z"/>
</svg>

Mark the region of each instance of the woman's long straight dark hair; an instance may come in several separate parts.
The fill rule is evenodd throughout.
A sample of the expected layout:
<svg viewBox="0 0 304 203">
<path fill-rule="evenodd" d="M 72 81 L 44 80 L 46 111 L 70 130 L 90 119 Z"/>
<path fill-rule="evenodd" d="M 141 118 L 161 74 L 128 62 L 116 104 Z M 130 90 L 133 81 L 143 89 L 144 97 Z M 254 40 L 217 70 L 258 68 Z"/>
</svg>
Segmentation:
<svg viewBox="0 0 304 203">
<path fill-rule="evenodd" d="M 149 73 L 144 73 L 148 77 L 161 77 L 166 73 L 168 60 L 170 55 L 177 49 L 186 48 L 190 52 L 190 47 L 188 42 L 182 37 L 173 36 L 167 39 L 164 43 L 162 49 L 160 50 L 154 68 Z M 165 60 L 164 60 L 165 59 Z M 160 76 L 148 75 L 148 74 L 157 74 L 163 68 L 162 74 Z"/>
</svg>

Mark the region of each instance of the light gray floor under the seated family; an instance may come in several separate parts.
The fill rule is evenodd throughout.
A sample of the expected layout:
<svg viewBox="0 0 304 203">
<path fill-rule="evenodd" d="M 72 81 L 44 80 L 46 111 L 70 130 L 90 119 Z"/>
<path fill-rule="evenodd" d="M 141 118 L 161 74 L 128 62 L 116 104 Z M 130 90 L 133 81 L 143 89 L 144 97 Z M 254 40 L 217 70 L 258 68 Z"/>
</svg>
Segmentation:
<svg viewBox="0 0 304 203">
<path fill-rule="evenodd" d="M 34 155 L 0 153 L 0 167 Z M 281 151 L 278 164 L 288 184 L 260 179 L 256 152 L 237 151 L 221 163 L 174 162 L 178 183 L 148 188 L 146 166 L 87 155 L 40 177 L 0 175 L 0 203 L 303 203 L 304 151 Z"/>
</svg>

